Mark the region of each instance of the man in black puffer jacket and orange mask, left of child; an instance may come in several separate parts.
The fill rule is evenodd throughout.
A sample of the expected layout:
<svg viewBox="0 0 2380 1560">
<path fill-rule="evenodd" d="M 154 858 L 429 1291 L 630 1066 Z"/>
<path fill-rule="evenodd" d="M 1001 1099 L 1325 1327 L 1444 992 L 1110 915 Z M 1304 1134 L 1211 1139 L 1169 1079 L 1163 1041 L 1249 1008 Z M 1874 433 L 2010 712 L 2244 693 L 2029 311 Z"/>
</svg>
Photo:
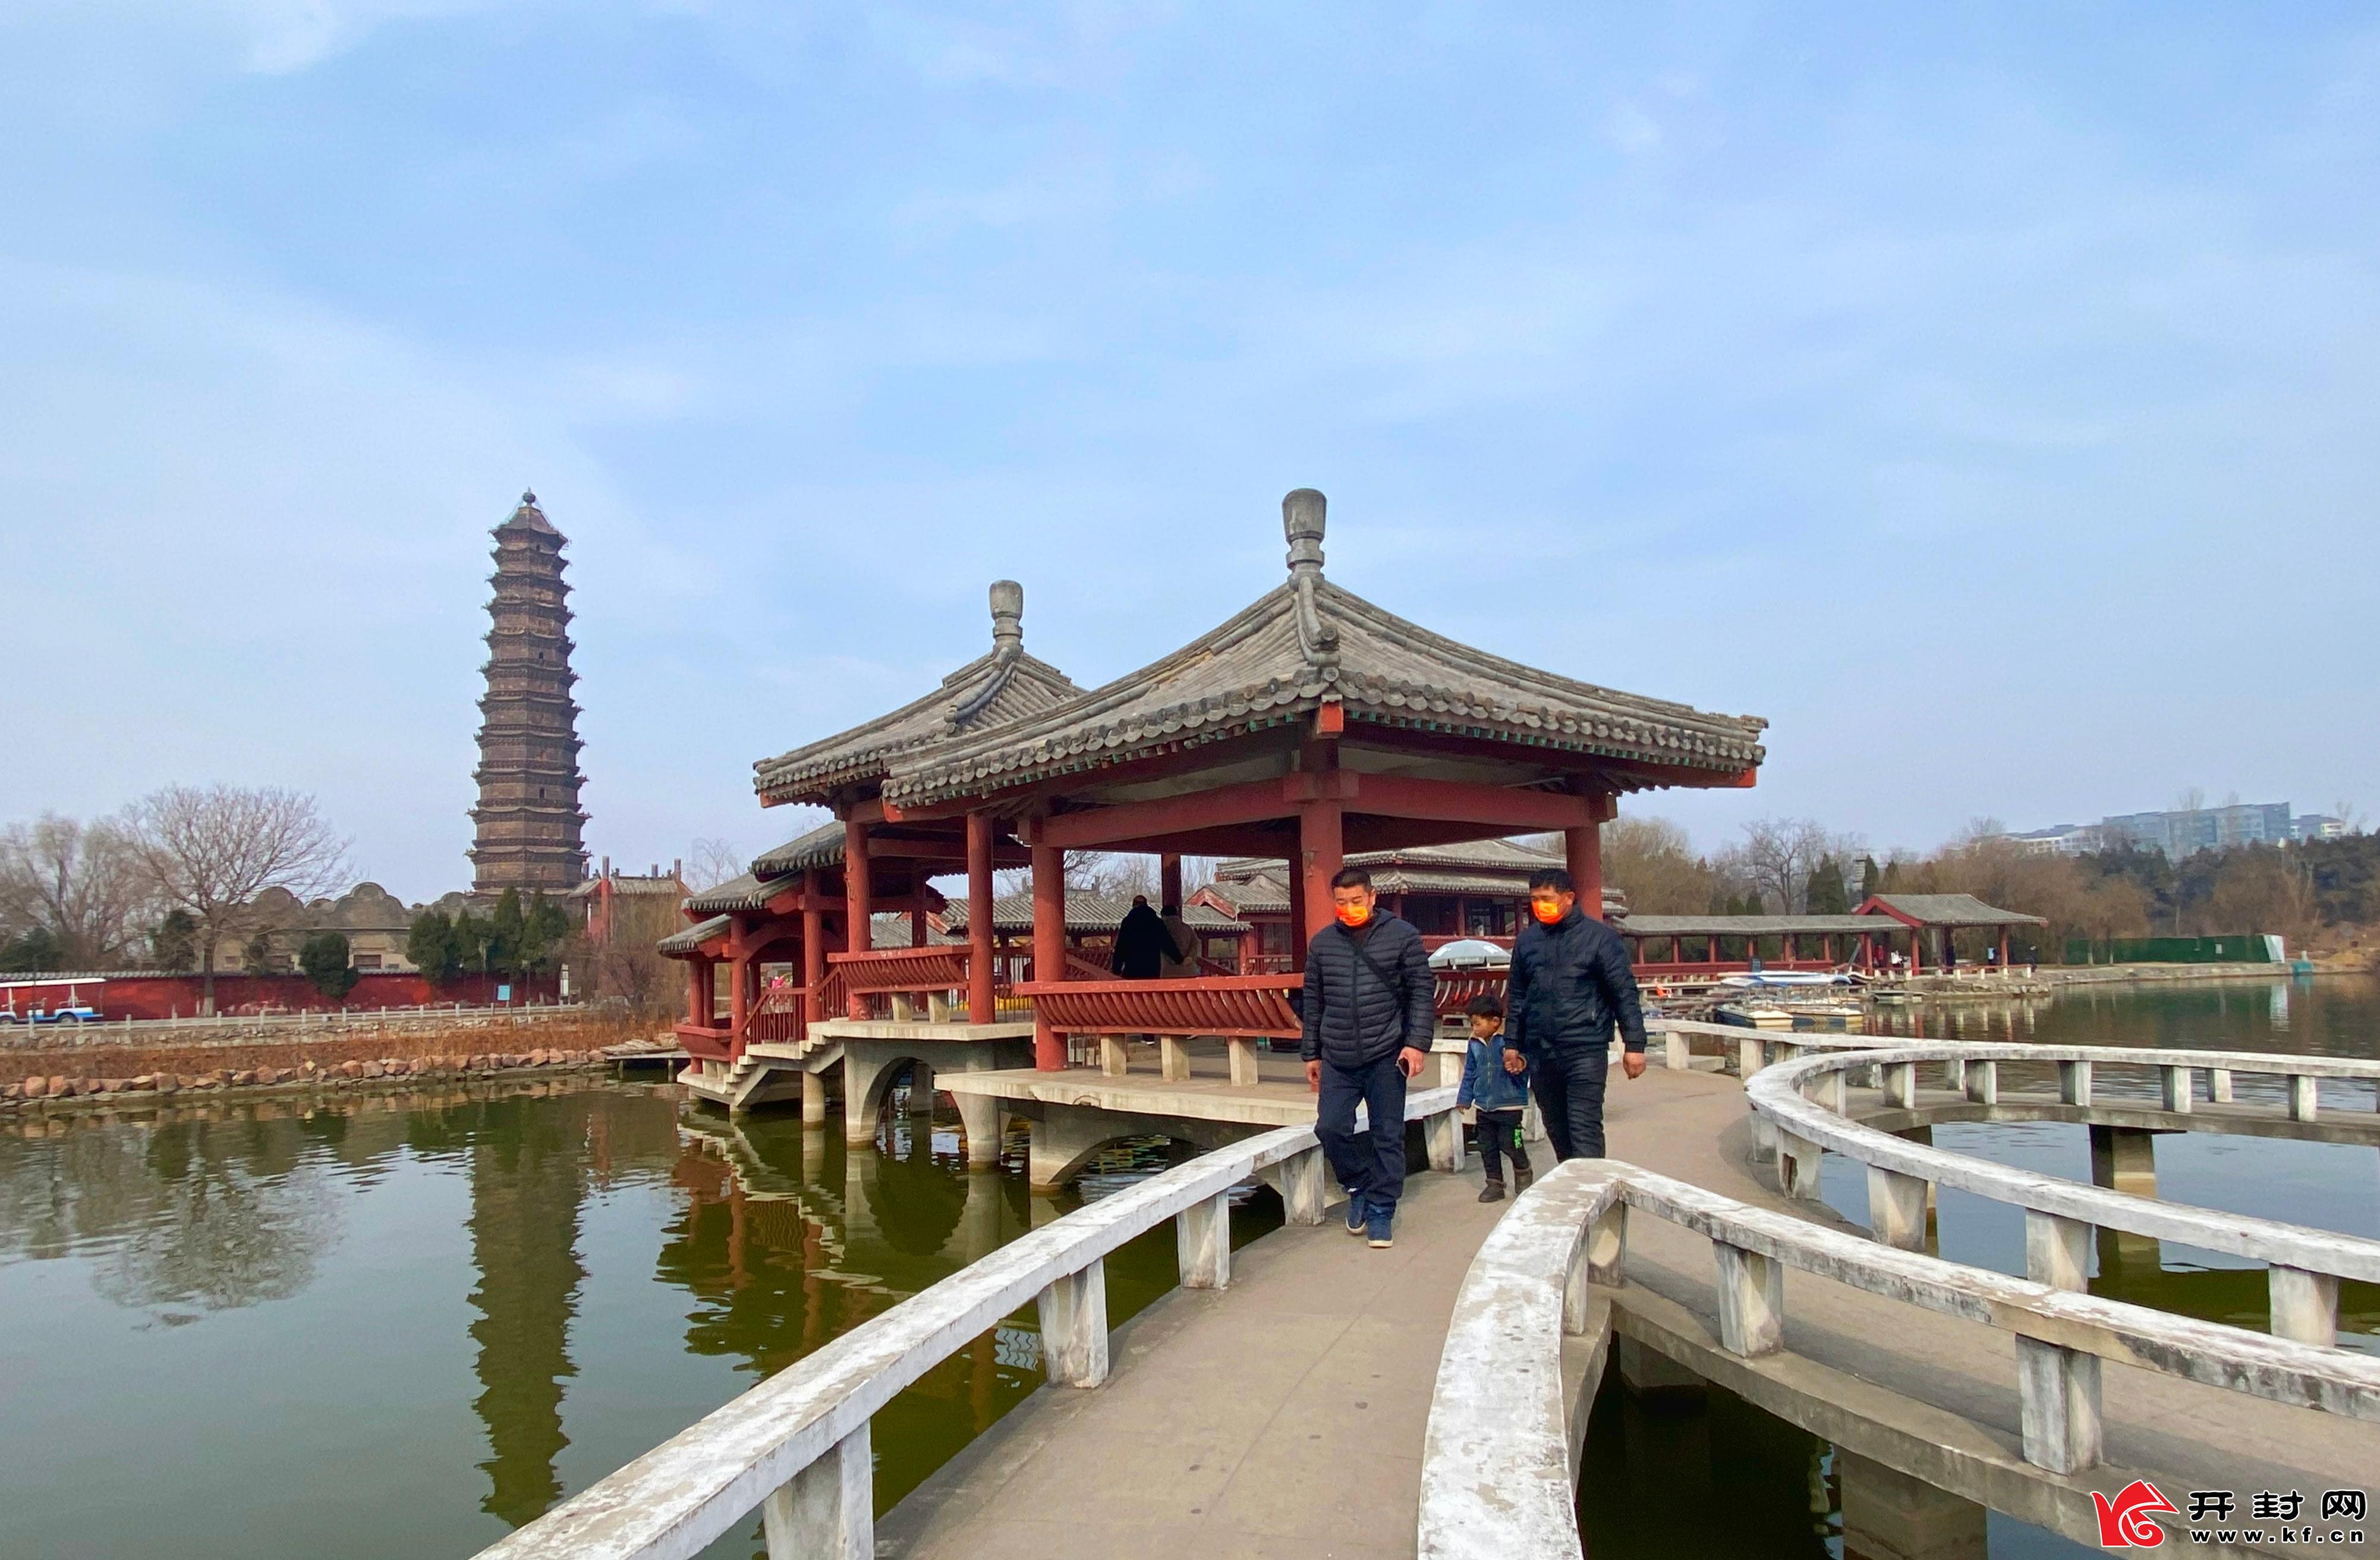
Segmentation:
<svg viewBox="0 0 2380 1560">
<path fill-rule="evenodd" d="M 1430 955 L 1411 922 L 1373 905 L 1371 874 L 1330 879 L 1338 919 L 1307 946 L 1307 1086 L 1321 1093 L 1314 1136 L 1347 1188 L 1347 1234 L 1395 1243 L 1404 1191 L 1404 1084 L 1421 1077 L 1438 1027 Z M 1357 1100 L 1371 1131 L 1354 1129 Z"/>
</svg>

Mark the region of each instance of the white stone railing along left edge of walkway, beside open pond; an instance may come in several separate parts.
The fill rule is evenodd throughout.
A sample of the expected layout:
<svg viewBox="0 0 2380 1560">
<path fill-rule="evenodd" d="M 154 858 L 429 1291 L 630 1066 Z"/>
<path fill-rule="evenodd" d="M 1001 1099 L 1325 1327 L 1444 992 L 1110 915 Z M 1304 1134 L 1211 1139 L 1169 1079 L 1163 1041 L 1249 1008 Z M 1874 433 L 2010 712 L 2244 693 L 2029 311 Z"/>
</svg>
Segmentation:
<svg viewBox="0 0 2380 1560">
<path fill-rule="evenodd" d="M 1445 1105 L 1445 1100 L 1435 1100 Z M 685 1560 L 754 1510 L 771 1555 L 866 1560 L 873 1541 L 869 1417 L 892 1393 L 1040 1305 L 1042 1369 L 1057 1386 L 1107 1379 L 1102 1258 L 1173 1219 L 1185 1288 L 1230 1281 L 1230 1188 L 1276 1169 L 1292 1224 L 1323 1222 L 1311 1127 L 1219 1148 L 1019 1236 L 964 1272 L 862 1322 L 481 1560 Z"/>
</svg>

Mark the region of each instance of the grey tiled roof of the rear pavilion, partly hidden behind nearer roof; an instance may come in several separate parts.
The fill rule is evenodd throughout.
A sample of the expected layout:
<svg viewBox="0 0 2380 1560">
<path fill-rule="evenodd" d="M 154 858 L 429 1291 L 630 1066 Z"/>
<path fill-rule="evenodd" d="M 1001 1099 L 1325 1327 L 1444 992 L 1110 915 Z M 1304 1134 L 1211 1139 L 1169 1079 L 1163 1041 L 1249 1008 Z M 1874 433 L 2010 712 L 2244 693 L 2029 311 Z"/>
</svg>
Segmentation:
<svg viewBox="0 0 2380 1560">
<path fill-rule="evenodd" d="M 1016 581 L 995 584 L 990 653 L 890 715 L 759 760 L 752 788 L 764 803 L 826 800 L 840 786 L 881 781 L 902 755 L 1028 719 L 1081 693 L 1064 672 L 1026 655 L 1023 600 Z"/>
</svg>

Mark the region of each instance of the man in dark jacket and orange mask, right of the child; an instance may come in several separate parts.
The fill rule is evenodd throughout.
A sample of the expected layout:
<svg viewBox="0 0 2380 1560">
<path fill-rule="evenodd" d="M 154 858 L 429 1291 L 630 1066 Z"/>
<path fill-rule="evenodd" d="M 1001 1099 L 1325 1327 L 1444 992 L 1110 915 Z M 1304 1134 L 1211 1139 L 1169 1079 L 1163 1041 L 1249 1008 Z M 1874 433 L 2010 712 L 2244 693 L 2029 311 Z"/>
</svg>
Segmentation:
<svg viewBox="0 0 2380 1560">
<path fill-rule="evenodd" d="M 1528 874 L 1528 915 L 1511 946 L 1504 1036 L 1528 1055 L 1530 1086 L 1557 1160 L 1604 1157 L 1611 1029 L 1621 1069 L 1645 1077 L 1645 1007 L 1621 934 L 1578 907 L 1561 867 Z"/>
</svg>

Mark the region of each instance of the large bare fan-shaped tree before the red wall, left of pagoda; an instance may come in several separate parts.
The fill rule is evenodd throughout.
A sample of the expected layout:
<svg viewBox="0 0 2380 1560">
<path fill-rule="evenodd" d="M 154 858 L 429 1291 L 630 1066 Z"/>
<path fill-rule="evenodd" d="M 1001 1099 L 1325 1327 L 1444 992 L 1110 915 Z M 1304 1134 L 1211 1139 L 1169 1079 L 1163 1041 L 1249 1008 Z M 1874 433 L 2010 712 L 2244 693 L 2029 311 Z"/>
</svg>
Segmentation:
<svg viewBox="0 0 2380 1560">
<path fill-rule="evenodd" d="M 312 795 L 274 786 L 167 786 L 124 815 L 124 834 L 152 891 L 198 926 L 205 991 L 214 1012 L 214 950 L 250 900 L 286 888 L 328 893 L 347 860 Z"/>
</svg>

